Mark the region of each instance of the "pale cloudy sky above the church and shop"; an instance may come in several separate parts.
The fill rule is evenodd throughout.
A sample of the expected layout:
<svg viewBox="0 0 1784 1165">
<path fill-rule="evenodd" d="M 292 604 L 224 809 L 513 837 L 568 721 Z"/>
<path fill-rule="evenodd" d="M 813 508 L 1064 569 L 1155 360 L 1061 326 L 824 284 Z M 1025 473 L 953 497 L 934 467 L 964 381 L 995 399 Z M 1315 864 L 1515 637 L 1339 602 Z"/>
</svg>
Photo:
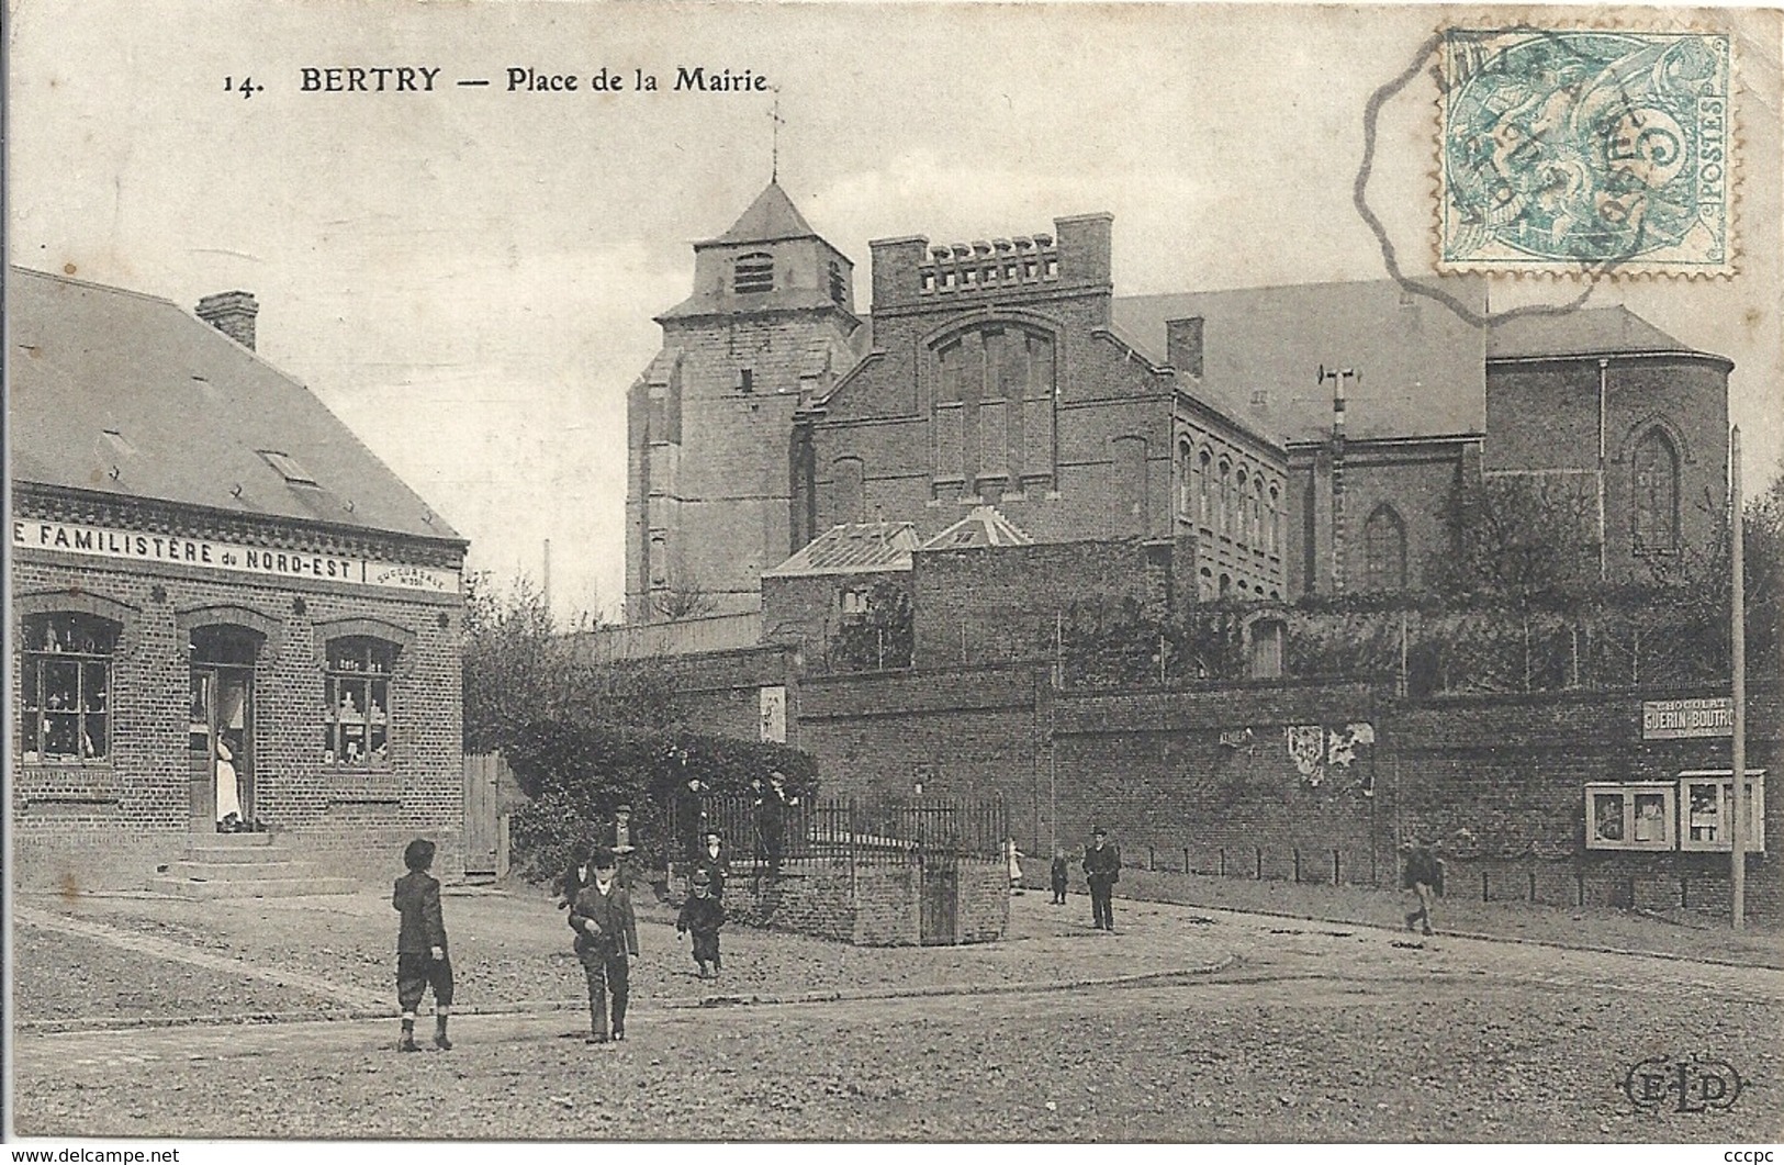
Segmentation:
<svg viewBox="0 0 1784 1165">
<path fill-rule="evenodd" d="M 187 309 L 255 293 L 260 355 L 471 541 L 469 569 L 537 582 L 549 541 L 564 619 L 617 616 L 626 387 L 657 353 L 653 316 L 690 291 L 690 244 L 774 164 L 776 93 L 678 93 L 680 68 L 769 78 L 780 182 L 855 259 L 862 305 L 869 239 L 1049 232 L 1094 211 L 1115 216 L 1117 294 L 1147 294 L 1381 278 L 1352 205 L 1365 103 L 1436 27 L 1484 20 L 1429 5 L 9 7 L 11 260 Z M 1757 492 L 1784 459 L 1779 18 L 1643 20 L 1734 34 L 1739 271 L 1606 282 L 1591 305 L 1736 362 Z M 394 91 L 394 73 L 385 93 L 305 91 L 305 70 L 328 68 L 437 73 L 432 93 Z M 574 75 L 578 91 L 510 91 L 510 70 Z M 626 89 L 591 91 L 601 70 Z M 662 89 L 633 91 L 639 70 Z M 1368 178 L 1411 275 L 1429 271 L 1434 98 L 1418 77 L 1386 103 Z M 1493 307 L 1573 294 L 1506 280 Z"/>
</svg>

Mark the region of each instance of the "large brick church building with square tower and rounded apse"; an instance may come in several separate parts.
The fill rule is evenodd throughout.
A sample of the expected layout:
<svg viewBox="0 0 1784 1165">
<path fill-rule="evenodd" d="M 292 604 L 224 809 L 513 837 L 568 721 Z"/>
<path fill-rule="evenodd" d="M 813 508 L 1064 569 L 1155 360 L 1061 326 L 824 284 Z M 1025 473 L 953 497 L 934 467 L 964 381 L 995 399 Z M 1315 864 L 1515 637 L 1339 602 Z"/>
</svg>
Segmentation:
<svg viewBox="0 0 1784 1165">
<path fill-rule="evenodd" d="M 776 184 L 694 244 L 628 401 L 628 623 L 760 610 L 837 526 L 924 544 L 979 507 L 1042 546 L 1152 546 L 1185 601 L 1416 591 L 1452 492 L 1495 476 L 1572 491 L 1606 578 L 1720 521 L 1732 362 L 1622 307 L 1488 325 L 1472 280 L 1117 296 L 1106 214 L 871 252 L 862 312 Z"/>
</svg>

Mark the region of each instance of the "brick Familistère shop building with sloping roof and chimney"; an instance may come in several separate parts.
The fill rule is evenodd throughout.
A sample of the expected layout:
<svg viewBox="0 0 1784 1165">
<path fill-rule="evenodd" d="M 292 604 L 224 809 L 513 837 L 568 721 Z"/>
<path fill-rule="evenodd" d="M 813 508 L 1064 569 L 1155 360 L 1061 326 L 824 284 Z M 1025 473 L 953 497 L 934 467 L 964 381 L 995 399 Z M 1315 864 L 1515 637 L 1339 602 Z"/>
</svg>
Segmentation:
<svg viewBox="0 0 1784 1165">
<path fill-rule="evenodd" d="M 9 275 L 16 885 L 253 831 L 453 871 L 464 539 L 255 355 L 253 296 Z"/>
</svg>

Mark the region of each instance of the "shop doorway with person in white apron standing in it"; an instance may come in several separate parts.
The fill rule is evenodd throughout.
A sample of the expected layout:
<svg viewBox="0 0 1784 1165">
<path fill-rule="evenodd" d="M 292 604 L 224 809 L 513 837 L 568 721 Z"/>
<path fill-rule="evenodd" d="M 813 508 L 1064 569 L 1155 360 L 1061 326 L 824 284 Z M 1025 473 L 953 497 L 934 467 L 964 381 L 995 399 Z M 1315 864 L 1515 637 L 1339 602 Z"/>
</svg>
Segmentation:
<svg viewBox="0 0 1784 1165">
<path fill-rule="evenodd" d="M 253 664 L 260 635 L 202 626 L 191 639 L 193 830 L 244 833 L 255 822 Z"/>
</svg>

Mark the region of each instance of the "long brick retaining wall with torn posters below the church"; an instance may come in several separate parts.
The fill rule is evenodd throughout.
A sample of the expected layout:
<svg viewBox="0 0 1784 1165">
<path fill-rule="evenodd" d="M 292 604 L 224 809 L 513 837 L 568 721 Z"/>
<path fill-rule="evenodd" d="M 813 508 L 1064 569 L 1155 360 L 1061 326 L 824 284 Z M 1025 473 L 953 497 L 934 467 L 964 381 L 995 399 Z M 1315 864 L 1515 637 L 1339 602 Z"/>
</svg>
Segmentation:
<svg viewBox="0 0 1784 1165">
<path fill-rule="evenodd" d="M 1135 865 L 1393 885 L 1399 840 L 1422 837 L 1445 840 L 1452 894 L 1718 908 L 1727 855 L 1582 847 L 1588 781 L 1727 767 L 1725 739 L 1639 740 L 1641 699 L 1677 696 L 1397 703 L 1363 683 L 1299 682 L 1056 692 L 1045 669 L 987 665 L 808 678 L 797 731 L 826 794 L 903 796 L 922 780 L 928 794 L 1001 796 L 1033 855 L 1054 839 L 1072 851 L 1101 822 Z M 1290 755 L 1290 726 L 1359 723 L 1375 742 L 1318 781 Z M 1748 764 L 1775 771 L 1777 689 L 1755 690 L 1748 723 Z M 1755 915 L 1784 912 L 1780 801 L 1768 797 L 1768 853 L 1748 858 Z"/>
</svg>

